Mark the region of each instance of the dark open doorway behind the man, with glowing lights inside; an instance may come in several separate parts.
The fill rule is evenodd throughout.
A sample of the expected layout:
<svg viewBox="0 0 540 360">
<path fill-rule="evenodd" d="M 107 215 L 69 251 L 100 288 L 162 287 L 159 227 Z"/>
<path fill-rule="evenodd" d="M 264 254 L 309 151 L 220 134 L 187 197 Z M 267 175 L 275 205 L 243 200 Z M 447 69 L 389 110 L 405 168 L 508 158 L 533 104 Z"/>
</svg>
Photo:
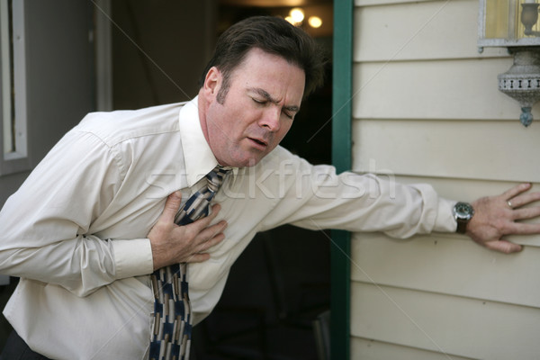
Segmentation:
<svg viewBox="0 0 540 360">
<path fill-rule="evenodd" d="M 287 16 L 332 53 L 331 0 L 111 2 L 112 107 L 191 99 L 220 32 L 253 15 Z M 319 28 L 308 24 L 318 16 Z M 196 34 L 196 35 L 194 35 Z M 187 54 L 187 56 L 186 56 Z M 282 145 L 312 164 L 331 162 L 331 64 L 324 87 L 302 103 Z M 313 321 L 329 310 L 329 235 L 284 226 L 258 234 L 238 258 L 216 309 L 194 328 L 197 360 L 318 357 Z"/>
</svg>

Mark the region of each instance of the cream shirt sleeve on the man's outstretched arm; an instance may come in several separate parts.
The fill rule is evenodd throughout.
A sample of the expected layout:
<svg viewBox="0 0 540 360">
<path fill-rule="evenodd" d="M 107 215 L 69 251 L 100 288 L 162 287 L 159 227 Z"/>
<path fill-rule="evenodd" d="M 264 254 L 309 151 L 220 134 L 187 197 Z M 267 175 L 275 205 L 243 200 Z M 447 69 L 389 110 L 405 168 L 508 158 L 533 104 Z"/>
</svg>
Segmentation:
<svg viewBox="0 0 540 360">
<path fill-rule="evenodd" d="M 455 202 L 439 197 L 429 184 L 400 184 L 387 175 L 337 175 L 333 166 L 312 166 L 291 155 L 287 161 L 294 175 L 282 176 L 280 186 L 286 191 L 266 216 L 264 229 L 290 223 L 306 229 L 381 231 L 393 238 L 455 231 Z"/>
</svg>

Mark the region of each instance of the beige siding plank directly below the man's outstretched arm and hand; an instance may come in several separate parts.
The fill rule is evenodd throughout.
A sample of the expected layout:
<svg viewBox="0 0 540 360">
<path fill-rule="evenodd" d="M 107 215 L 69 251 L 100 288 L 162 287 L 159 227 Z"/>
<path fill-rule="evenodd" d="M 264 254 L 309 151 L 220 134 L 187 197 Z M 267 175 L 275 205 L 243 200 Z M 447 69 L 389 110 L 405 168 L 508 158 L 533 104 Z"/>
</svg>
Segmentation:
<svg viewBox="0 0 540 360">
<path fill-rule="evenodd" d="M 505 255 L 461 236 L 355 234 L 351 278 L 433 293 L 540 308 L 540 248 Z"/>
</svg>

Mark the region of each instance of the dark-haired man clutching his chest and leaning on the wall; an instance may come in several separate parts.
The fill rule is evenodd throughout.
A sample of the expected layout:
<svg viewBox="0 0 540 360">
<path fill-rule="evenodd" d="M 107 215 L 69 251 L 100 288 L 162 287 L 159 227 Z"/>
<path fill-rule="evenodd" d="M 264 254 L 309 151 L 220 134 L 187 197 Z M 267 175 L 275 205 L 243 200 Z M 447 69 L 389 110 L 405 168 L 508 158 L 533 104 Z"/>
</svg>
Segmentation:
<svg viewBox="0 0 540 360">
<path fill-rule="evenodd" d="M 21 277 L 4 315 L 18 344 L 31 348 L 23 351 L 147 359 L 154 270 L 189 265 L 196 324 L 257 231 L 285 223 L 404 238 L 455 231 L 457 217 L 459 229 L 503 252 L 520 247 L 502 236 L 540 232 L 515 222 L 540 214 L 521 208 L 540 198 L 524 193 L 529 184 L 473 202 L 471 218 L 471 207 L 454 215 L 455 202 L 428 185 L 336 175 L 279 147 L 321 74 L 302 31 L 250 18 L 220 37 L 192 102 L 92 113 L 69 131 L 0 212 L 0 272 Z M 232 171 L 211 213 L 176 225 L 182 202 L 218 164 Z"/>
</svg>

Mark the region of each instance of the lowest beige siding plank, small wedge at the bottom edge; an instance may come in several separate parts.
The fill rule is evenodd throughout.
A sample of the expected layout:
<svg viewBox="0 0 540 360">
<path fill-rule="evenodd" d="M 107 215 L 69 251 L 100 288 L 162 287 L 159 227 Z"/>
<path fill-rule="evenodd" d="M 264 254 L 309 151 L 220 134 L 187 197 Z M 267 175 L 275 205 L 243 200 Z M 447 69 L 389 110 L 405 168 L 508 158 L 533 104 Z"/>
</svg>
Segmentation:
<svg viewBox="0 0 540 360">
<path fill-rule="evenodd" d="M 365 338 L 351 338 L 351 359 L 362 360 L 449 360 L 448 354 L 412 347 L 401 347 Z M 471 360 L 470 357 L 450 355 L 452 360 Z"/>
</svg>

